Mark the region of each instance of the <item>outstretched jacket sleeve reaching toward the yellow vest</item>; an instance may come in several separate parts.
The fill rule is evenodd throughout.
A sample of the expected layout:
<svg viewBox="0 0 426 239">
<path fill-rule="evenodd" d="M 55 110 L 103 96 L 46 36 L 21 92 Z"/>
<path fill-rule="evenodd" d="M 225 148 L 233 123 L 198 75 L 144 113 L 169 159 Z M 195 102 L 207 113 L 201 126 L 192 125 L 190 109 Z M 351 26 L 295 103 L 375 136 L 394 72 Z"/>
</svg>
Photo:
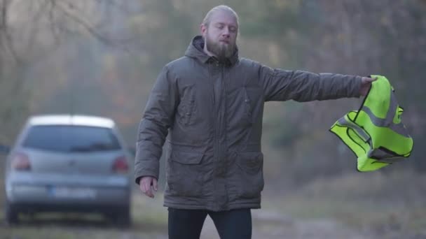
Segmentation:
<svg viewBox="0 0 426 239">
<path fill-rule="evenodd" d="M 359 97 L 360 76 L 285 71 L 261 66 L 265 101 L 315 101 Z"/>
</svg>

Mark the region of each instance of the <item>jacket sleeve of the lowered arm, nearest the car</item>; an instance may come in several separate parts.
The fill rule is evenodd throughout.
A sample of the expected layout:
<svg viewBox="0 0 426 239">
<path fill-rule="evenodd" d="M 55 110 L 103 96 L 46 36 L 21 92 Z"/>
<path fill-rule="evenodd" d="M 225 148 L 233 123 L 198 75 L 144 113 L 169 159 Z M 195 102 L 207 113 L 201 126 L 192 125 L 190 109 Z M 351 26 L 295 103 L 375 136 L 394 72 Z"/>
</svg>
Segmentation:
<svg viewBox="0 0 426 239">
<path fill-rule="evenodd" d="M 158 75 L 139 124 L 135 156 L 135 182 L 143 176 L 158 179 L 163 145 L 172 125 L 178 92 L 167 66 Z"/>
</svg>

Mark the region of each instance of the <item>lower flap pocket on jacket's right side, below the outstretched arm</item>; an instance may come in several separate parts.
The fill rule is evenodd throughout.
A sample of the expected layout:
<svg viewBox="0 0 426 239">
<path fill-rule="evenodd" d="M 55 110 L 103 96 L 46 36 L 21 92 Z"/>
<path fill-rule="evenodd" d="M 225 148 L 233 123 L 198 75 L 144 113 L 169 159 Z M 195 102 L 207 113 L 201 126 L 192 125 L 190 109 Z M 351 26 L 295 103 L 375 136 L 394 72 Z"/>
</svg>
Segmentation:
<svg viewBox="0 0 426 239">
<path fill-rule="evenodd" d="M 239 152 L 237 165 L 240 173 L 239 196 L 256 198 L 263 190 L 263 154 L 261 152 Z"/>
</svg>

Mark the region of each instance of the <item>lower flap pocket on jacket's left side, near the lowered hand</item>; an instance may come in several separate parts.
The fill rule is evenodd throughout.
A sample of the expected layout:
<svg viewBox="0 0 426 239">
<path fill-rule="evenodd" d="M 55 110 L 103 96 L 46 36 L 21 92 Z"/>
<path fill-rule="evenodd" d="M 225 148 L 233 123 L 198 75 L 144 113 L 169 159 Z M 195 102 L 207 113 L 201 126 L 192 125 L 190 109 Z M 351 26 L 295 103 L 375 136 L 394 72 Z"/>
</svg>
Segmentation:
<svg viewBox="0 0 426 239">
<path fill-rule="evenodd" d="M 166 180 L 170 193 L 177 196 L 201 196 L 204 154 L 172 151 L 167 159 Z"/>
</svg>

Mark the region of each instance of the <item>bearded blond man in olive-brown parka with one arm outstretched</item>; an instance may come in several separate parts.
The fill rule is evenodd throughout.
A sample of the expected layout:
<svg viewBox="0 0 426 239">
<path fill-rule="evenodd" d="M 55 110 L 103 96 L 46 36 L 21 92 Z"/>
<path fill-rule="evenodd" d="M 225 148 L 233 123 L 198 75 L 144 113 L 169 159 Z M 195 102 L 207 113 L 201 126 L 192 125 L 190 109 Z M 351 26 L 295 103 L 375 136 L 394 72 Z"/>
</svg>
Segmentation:
<svg viewBox="0 0 426 239">
<path fill-rule="evenodd" d="M 164 205 L 170 238 L 199 238 L 209 215 L 221 238 L 251 238 L 261 207 L 265 101 L 365 95 L 371 78 L 284 71 L 238 57 L 238 15 L 207 13 L 185 56 L 161 71 L 139 125 L 135 180 L 157 191 L 166 141 Z"/>
</svg>

